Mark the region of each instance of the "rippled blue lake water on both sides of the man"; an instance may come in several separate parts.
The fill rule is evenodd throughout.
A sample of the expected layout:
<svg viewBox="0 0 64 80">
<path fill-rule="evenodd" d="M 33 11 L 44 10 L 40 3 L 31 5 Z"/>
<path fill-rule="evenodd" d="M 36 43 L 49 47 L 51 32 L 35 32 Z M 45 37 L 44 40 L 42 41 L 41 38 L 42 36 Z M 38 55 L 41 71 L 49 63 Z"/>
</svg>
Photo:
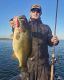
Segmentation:
<svg viewBox="0 0 64 80">
<path fill-rule="evenodd" d="M 51 53 L 52 49 L 49 47 L 50 56 Z M 0 80 L 9 80 L 20 73 L 18 62 L 12 58 L 12 54 L 12 41 L 0 40 Z M 55 48 L 55 56 L 58 58 L 58 62 L 55 63 L 55 74 L 64 80 L 64 41 L 60 41 Z"/>
</svg>

